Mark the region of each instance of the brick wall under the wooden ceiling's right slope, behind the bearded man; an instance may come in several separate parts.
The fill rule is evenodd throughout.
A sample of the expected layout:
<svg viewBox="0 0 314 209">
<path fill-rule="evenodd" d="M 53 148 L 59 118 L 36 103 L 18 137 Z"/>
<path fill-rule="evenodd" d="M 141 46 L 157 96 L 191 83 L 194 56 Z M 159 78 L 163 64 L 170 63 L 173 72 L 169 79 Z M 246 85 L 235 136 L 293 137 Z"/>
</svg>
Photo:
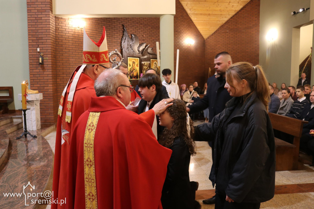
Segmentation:
<svg viewBox="0 0 314 209">
<path fill-rule="evenodd" d="M 214 57 L 228 51 L 232 62 L 259 62 L 260 0 L 251 0 L 205 40 L 205 66 L 214 71 Z"/>
</svg>

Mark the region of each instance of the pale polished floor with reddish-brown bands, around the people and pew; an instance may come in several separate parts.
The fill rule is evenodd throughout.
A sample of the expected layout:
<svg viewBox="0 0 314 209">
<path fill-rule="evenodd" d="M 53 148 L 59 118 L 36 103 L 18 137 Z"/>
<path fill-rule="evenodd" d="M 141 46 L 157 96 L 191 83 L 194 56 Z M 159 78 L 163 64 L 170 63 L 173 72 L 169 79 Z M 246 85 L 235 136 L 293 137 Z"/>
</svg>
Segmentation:
<svg viewBox="0 0 314 209">
<path fill-rule="evenodd" d="M 204 121 L 195 121 L 195 125 Z M 45 137 L 54 152 L 56 132 Z M 196 142 L 197 154 L 191 157 L 189 173 L 191 181 L 198 181 L 199 187 L 196 199 L 202 209 L 214 208 L 214 205 L 204 205 L 203 199 L 214 195 L 211 181 L 208 179 L 212 166 L 211 148 L 207 142 Z M 277 171 L 275 177 L 275 196 L 272 200 L 263 202 L 265 209 L 310 209 L 314 208 L 314 167 L 304 165 L 302 170 Z M 50 208 L 50 206 L 47 206 Z"/>
</svg>

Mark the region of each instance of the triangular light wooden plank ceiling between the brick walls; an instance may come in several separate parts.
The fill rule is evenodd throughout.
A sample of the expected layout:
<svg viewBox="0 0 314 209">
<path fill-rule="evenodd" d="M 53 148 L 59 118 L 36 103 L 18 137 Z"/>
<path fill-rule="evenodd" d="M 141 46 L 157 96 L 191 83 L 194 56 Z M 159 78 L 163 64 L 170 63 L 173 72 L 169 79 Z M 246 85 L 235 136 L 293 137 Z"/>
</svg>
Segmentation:
<svg viewBox="0 0 314 209">
<path fill-rule="evenodd" d="M 212 35 L 250 0 L 179 0 L 203 35 Z"/>
</svg>

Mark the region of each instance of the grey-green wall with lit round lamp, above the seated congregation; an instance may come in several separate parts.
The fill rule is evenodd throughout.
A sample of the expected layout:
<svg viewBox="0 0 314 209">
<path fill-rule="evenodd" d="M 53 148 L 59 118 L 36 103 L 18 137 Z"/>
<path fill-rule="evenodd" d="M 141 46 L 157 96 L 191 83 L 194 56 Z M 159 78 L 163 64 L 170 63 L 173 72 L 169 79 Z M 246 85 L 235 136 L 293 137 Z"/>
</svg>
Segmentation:
<svg viewBox="0 0 314 209">
<path fill-rule="evenodd" d="M 297 84 L 300 27 L 310 21 L 310 11 L 293 16 L 291 12 L 309 7 L 310 0 L 261 0 L 259 63 L 270 83 Z M 265 37 L 272 28 L 278 30 L 278 39 L 270 43 Z"/>
</svg>

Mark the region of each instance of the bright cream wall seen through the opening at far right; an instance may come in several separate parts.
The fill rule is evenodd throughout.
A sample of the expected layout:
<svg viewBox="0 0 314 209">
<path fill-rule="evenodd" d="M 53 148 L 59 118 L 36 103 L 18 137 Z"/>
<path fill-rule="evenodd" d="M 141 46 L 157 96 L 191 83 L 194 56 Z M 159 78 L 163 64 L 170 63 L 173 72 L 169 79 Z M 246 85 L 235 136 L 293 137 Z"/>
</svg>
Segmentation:
<svg viewBox="0 0 314 209">
<path fill-rule="evenodd" d="M 312 47 L 312 40 L 313 40 L 313 24 L 306 25 L 300 28 L 300 61 L 309 56 L 311 53 Z"/>
</svg>

